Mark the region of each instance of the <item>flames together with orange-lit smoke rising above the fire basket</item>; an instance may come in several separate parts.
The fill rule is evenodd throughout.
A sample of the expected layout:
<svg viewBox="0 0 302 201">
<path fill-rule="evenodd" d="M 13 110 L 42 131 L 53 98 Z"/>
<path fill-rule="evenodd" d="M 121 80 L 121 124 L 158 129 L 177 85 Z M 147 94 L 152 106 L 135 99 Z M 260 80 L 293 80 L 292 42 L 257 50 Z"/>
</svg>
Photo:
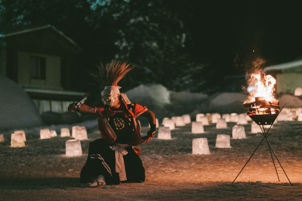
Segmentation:
<svg viewBox="0 0 302 201">
<path fill-rule="evenodd" d="M 249 97 L 243 104 L 254 102 L 255 97 L 263 97 L 269 102 L 275 101 L 276 80 L 263 72 L 265 60 L 257 58 L 252 64 L 253 67 L 247 69 L 246 72 L 247 86 L 243 87 L 243 90 L 249 93 Z"/>
</svg>

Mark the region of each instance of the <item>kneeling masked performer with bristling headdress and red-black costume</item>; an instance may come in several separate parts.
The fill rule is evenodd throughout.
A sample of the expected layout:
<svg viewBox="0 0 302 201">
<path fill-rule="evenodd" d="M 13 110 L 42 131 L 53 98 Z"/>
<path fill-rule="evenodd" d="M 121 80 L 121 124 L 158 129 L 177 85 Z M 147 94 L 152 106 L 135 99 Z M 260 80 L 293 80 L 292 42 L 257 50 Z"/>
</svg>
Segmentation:
<svg viewBox="0 0 302 201">
<path fill-rule="evenodd" d="M 81 104 L 80 107 L 72 103 L 68 107 L 71 112 L 98 116 L 102 138 L 89 144 L 87 162 L 80 176 L 81 183 L 88 183 L 88 187 L 145 181 L 145 169 L 132 146 L 148 142 L 154 137 L 156 119 L 146 106 L 132 103 L 126 94 L 120 93 L 121 87 L 117 83 L 131 69 L 129 64 L 116 61 L 101 66 L 99 77 L 105 85 L 101 92 L 102 103 L 94 106 Z M 148 118 L 150 124 L 150 130 L 143 138 L 138 116 Z"/>
</svg>

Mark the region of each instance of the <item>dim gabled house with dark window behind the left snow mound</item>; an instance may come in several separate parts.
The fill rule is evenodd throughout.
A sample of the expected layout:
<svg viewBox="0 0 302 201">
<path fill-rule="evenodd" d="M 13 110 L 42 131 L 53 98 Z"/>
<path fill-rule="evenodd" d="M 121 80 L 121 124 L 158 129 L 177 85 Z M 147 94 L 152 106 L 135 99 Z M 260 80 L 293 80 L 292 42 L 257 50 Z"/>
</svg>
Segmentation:
<svg viewBox="0 0 302 201">
<path fill-rule="evenodd" d="M 84 93 L 73 91 L 81 48 L 51 25 L 0 27 L 0 74 L 18 83 L 40 113 L 63 113 Z"/>
</svg>

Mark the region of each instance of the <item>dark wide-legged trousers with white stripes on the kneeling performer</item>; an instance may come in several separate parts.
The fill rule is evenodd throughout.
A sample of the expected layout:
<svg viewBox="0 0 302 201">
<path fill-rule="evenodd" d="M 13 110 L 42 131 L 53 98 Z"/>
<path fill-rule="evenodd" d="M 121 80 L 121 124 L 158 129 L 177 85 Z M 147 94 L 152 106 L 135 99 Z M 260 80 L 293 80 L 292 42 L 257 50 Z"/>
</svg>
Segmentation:
<svg viewBox="0 0 302 201">
<path fill-rule="evenodd" d="M 123 156 L 127 180 L 120 181 L 119 173 L 115 172 L 115 151 L 109 146 L 112 145 L 104 139 L 89 143 L 87 162 L 81 171 L 81 183 L 91 183 L 99 175 L 104 175 L 106 184 L 144 182 L 145 168 L 132 146 L 124 148 L 128 152 Z"/>
</svg>

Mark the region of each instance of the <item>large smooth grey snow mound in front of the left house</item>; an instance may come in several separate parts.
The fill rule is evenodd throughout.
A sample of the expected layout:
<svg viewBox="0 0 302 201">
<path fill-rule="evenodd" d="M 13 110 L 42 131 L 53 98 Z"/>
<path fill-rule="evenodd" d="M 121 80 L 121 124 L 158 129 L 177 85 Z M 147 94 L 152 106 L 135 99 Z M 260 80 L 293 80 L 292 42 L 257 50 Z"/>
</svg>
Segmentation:
<svg viewBox="0 0 302 201">
<path fill-rule="evenodd" d="M 12 80 L 0 76 L 0 130 L 43 125 L 34 102 Z"/>
</svg>

